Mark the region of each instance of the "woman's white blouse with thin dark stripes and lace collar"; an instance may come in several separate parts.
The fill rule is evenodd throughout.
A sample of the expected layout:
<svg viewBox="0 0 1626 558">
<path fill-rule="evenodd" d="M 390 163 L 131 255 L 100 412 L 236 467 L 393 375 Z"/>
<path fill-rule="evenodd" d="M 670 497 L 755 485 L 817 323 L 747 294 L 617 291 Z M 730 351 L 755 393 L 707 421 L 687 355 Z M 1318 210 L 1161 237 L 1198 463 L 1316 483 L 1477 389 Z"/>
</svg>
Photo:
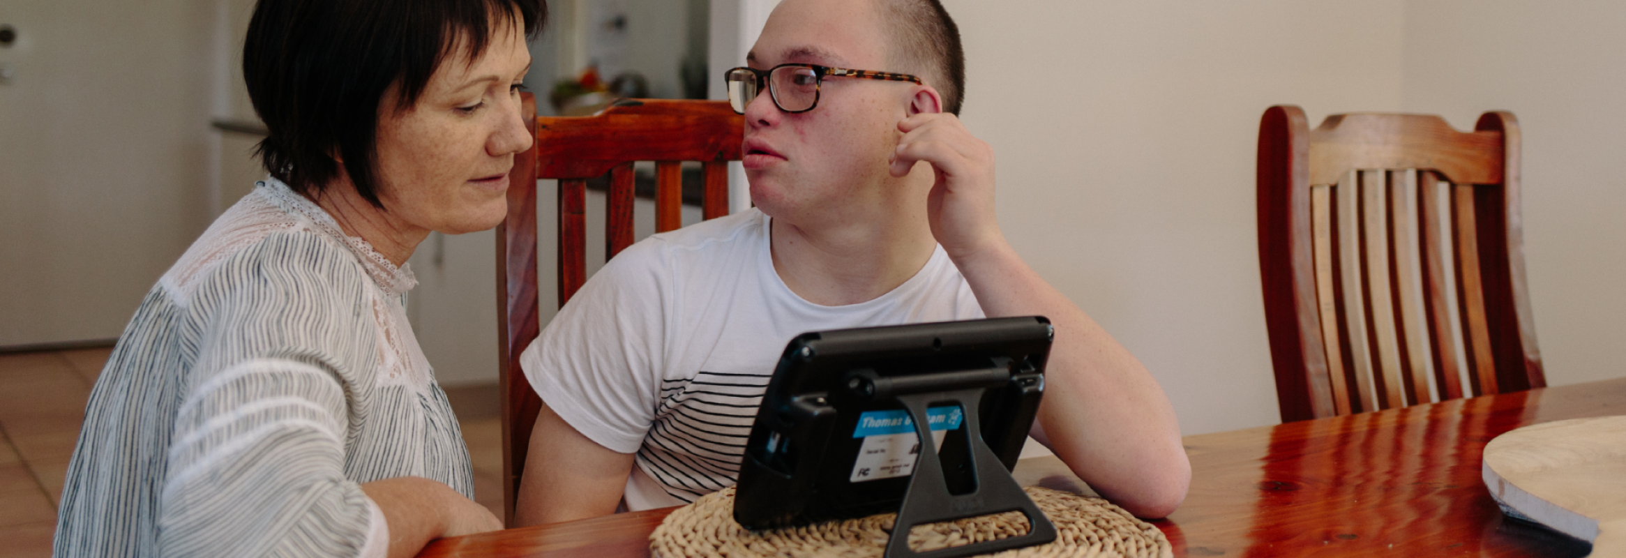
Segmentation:
<svg viewBox="0 0 1626 558">
<path fill-rule="evenodd" d="M 411 272 L 265 181 L 146 294 L 85 410 L 57 556 L 382 556 L 359 483 L 473 498 Z"/>
</svg>

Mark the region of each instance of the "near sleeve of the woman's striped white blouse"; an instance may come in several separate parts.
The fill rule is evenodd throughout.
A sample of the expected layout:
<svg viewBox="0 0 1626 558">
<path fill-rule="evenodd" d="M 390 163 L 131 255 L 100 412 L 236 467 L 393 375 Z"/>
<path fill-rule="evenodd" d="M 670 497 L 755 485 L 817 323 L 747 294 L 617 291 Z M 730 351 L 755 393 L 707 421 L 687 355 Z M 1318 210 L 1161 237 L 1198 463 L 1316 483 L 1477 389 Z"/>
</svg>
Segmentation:
<svg viewBox="0 0 1626 558">
<path fill-rule="evenodd" d="M 340 247 L 280 233 L 200 286 L 198 353 L 159 488 L 159 555 L 389 547 L 377 506 L 345 477 L 346 438 L 372 390 L 366 281 Z"/>
</svg>

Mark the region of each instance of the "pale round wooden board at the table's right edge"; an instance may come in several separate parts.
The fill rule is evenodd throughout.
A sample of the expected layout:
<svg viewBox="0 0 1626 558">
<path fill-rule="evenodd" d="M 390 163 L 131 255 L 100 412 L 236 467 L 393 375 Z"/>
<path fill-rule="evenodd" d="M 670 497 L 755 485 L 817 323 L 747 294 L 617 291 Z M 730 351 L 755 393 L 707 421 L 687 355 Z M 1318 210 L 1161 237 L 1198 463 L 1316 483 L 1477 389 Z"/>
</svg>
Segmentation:
<svg viewBox="0 0 1626 558">
<path fill-rule="evenodd" d="M 1626 556 L 1626 416 L 1530 425 L 1485 446 L 1485 486 L 1509 516 Z"/>
</svg>

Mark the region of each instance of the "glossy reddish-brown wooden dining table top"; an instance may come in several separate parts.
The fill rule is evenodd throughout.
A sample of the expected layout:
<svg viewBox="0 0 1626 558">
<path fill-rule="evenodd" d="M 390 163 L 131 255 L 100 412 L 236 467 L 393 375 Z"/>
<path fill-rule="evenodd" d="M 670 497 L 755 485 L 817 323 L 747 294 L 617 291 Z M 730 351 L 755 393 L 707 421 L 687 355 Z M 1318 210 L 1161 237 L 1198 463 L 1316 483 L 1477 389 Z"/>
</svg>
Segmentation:
<svg viewBox="0 0 1626 558">
<path fill-rule="evenodd" d="M 1480 456 L 1519 426 L 1608 415 L 1626 415 L 1626 377 L 1185 436 L 1190 493 L 1153 524 L 1176 556 L 1585 556 L 1585 542 L 1504 517 Z M 1024 459 L 1016 478 L 1088 490 L 1055 457 Z M 668 512 L 442 538 L 420 556 L 647 556 Z"/>
</svg>

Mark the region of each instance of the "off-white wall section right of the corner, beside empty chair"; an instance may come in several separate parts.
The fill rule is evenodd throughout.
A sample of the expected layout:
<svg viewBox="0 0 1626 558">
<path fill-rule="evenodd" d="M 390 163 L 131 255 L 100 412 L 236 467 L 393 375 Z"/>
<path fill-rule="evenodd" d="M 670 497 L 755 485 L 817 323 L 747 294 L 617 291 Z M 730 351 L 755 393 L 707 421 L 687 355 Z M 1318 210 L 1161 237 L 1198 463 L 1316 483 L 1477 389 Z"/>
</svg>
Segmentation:
<svg viewBox="0 0 1626 558">
<path fill-rule="evenodd" d="M 1402 106 L 1524 130 L 1525 272 L 1548 384 L 1626 374 L 1626 3 L 1411 0 Z"/>
</svg>

